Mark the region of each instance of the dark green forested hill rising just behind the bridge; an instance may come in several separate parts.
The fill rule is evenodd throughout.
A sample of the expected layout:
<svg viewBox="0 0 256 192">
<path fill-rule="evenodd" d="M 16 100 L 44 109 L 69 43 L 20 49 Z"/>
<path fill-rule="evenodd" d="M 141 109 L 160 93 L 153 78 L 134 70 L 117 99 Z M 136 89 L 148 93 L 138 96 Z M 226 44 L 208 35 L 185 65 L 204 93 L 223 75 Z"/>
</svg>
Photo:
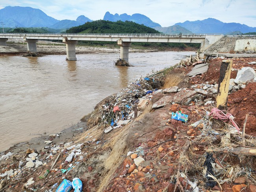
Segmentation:
<svg viewBox="0 0 256 192">
<path fill-rule="evenodd" d="M 96 20 L 83 25 L 72 27 L 67 33 L 160 33 L 153 28 L 132 21 Z"/>
</svg>

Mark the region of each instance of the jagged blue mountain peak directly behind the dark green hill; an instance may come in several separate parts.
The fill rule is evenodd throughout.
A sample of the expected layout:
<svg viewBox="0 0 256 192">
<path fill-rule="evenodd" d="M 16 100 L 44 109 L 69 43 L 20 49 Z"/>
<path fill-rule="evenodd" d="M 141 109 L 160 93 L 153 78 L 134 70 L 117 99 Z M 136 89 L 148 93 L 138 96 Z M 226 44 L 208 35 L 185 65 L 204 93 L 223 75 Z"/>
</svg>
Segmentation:
<svg viewBox="0 0 256 192">
<path fill-rule="evenodd" d="M 142 15 L 140 13 L 135 13 L 133 15 L 127 15 L 127 13 L 123 13 L 121 15 L 115 13 L 115 15 L 109 13 L 109 11 L 107 11 L 104 15 L 103 20 L 109 20 L 109 21 L 133 21 L 137 24 L 144 24 L 147 27 L 161 27 L 160 24 L 153 22 L 150 18 L 148 18 L 145 15 Z"/>
</svg>

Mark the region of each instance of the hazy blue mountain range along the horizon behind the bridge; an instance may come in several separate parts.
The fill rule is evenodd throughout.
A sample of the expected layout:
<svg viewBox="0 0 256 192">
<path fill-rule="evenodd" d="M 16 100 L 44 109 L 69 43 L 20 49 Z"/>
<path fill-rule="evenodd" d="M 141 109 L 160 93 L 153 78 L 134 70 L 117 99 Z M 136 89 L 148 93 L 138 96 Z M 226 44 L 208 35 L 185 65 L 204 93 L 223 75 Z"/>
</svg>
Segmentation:
<svg viewBox="0 0 256 192">
<path fill-rule="evenodd" d="M 143 24 L 145 26 L 154 28 L 162 33 L 248 33 L 255 32 L 255 27 L 249 27 L 240 23 L 224 23 L 215 18 L 207 18 L 204 20 L 185 21 L 183 23 L 176 23 L 174 26 L 161 27 L 160 24 L 153 22 L 145 15 L 135 13 L 133 15 L 117 14 L 115 15 L 106 12 L 103 20 L 109 20 L 112 22 L 132 21 L 137 24 Z M 7 6 L 0 9 L 0 22 L 4 24 L 4 27 L 17 28 L 17 27 L 48 27 L 52 29 L 68 29 L 75 26 L 80 26 L 86 22 L 92 20 L 80 15 L 76 20 L 57 20 L 53 17 L 46 15 L 40 9 L 34 9 L 32 7 L 19 7 L 19 6 Z M 236 32 L 234 32 L 236 31 Z"/>
</svg>

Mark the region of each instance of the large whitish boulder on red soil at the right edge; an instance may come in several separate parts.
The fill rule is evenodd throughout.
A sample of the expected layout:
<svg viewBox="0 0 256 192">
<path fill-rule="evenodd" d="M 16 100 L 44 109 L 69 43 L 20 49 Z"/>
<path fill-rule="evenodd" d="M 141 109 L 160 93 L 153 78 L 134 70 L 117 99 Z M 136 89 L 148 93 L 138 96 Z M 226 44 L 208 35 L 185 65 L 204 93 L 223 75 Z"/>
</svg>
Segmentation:
<svg viewBox="0 0 256 192">
<path fill-rule="evenodd" d="M 244 83 L 256 78 L 256 72 L 251 67 L 243 67 L 237 72 L 235 83 Z"/>
</svg>

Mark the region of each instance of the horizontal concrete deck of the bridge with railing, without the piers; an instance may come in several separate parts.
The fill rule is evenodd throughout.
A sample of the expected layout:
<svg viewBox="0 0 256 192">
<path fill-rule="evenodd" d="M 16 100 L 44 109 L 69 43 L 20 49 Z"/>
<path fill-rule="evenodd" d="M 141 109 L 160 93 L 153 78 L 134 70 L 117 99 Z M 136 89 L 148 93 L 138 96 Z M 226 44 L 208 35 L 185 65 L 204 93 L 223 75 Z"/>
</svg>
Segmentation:
<svg viewBox="0 0 256 192">
<path fill-rule="evenodd" d="M 129 33 L 0 33 L 0 38 L 8 39 L 41 39 L 41 40 L 67 40 L 74 41 L 117 41 L 123 42 L 202 42 L 206 35 L 222 35 L 217 33 L 150 33 L 150 34 L 129 34 Z"/>
</svg>

